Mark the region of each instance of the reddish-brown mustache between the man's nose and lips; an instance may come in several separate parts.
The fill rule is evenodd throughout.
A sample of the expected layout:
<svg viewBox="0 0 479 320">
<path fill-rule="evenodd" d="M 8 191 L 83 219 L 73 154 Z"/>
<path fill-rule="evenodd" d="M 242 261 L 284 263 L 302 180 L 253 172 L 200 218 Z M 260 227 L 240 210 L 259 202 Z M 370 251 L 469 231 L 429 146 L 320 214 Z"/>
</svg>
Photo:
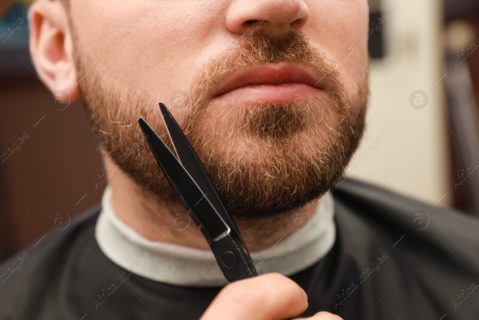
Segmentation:
<svg viewBox="0 0 479 320">
<path fill-rule="evenodd" d="M 281 36 L 268 31 L 257 30 L 246 37 L 239 45 L 223 50 L 207 62 L 194 77 L 188 90 L 188 106 L 180 110 L 185 112 L 185 134 L 191 136 L 195 120 L 208 109 L 208 92 L 225 81 L 236 71 L 254 64 L 271 62 L 294 62 L 304 65 L 312 71 L 328 97 L 344 106 L 344 84 L 334 61 L 319 47 L 313 47 L 308 39 L 294 31 Z M 341 113 L 343 110 L 339 110 Z"/>
</svg>

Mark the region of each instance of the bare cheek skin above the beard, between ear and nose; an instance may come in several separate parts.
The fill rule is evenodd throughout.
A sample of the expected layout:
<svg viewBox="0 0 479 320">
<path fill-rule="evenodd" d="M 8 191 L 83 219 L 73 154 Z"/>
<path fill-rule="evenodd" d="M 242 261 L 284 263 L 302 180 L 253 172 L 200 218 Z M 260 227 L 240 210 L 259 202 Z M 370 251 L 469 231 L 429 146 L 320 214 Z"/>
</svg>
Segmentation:
<svg viewBox="0 0 479 320">
<path fill-rule="evenodd" d="M 118 48 L 92 71 L 102 77 L 102 82 L 140 88 L 157 101 L 169 101 L 176 90 L 187 91 L 198 69 L 219 53 L 227 41 L 232 42 L 232 36 L 218 21 L 229 1 L 194 1 L 190 5 L 184 1 L 159 1 L 155 7 L 148 1 L 125 0 L 127 5 L 113 0 L 83 1 L 108 26 L 81 1 L 72 1 L 72 10 L 78 12 L 74 19 L 80 45 L 90 56 L 88 66 L 93 65 L 92 60 L 102 49 L 115 42 Z M 120 43 L 119 36 L 143 12 L 148 17 L 143 17 L 139 29 Z M 82 21 L 92 23 L 85 25 Z"/>
</svg>

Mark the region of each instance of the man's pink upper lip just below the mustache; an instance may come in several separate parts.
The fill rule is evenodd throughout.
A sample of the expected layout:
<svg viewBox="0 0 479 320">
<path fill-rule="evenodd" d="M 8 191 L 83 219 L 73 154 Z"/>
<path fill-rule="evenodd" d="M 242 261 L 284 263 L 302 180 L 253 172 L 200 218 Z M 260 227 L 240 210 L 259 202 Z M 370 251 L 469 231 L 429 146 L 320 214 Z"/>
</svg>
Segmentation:
<svg viewBox="0 0 479 320">
<path fill-rule="evenodd" d="M 304 83 L 323 89 L 319 77 L 304 66 L 292 62 L 262 63 L 233 73 L 224 83 L 213 90 L 215 98 L 240 87 L 254 84 Z"/>
</svg>

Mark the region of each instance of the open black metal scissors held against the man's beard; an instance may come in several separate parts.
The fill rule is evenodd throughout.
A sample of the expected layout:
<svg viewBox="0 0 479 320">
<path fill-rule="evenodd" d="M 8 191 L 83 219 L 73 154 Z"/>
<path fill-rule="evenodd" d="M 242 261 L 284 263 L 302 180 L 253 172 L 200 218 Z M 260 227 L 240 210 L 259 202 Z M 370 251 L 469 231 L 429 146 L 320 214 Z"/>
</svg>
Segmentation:
<svg viewBox="0 0 479 320">
<path fill-rule="evenodd" d="M 232 282 L 258 275 L 238 228 L 198 156 L 170 111 L 164 104 L 159 105 L 178 159 L 143 118 L 138 123 L 161 171 L 185 209 L 190 209 L 194 223 L 201 225 L 200 231 L 225 278 Z"/>
</svg>

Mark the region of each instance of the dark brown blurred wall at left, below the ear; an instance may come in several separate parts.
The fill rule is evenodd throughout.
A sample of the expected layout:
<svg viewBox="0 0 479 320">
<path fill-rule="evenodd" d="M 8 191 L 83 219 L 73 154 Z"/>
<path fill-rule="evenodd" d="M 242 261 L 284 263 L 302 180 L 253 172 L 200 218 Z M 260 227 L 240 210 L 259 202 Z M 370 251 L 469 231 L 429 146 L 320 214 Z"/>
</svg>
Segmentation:
<svg viewBox="0 0 479 320">
<path fill-rule="evenodd" d="M 0 81 L 0 260 L 101 200 L 96 138 L 79 103 L 63 107 L 33 73 Z"/>
</svg>

